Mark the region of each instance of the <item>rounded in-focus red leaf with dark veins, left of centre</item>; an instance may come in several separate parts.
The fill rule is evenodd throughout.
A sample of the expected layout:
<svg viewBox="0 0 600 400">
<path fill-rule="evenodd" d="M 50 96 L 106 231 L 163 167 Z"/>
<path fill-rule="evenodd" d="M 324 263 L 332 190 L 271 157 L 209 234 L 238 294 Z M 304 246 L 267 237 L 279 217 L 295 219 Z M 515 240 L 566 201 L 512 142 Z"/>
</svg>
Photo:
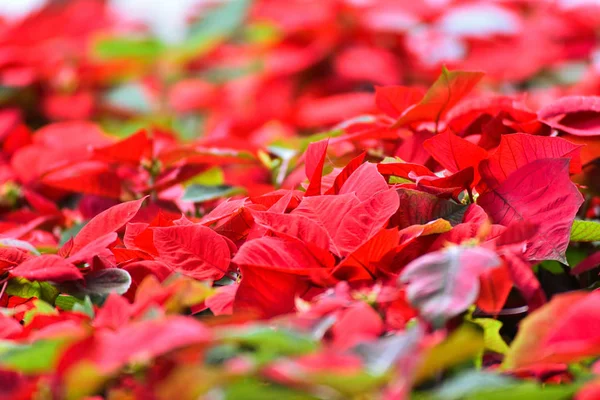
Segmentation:
<svg viewBox="0 0 600 400">
<path fill-rule="evenodd" d="M 202 225 L 153 228 L 154 246 L 171 268 L 195 279 L 217 280 L 229 269 L 224 238 Z"/>
</svg>

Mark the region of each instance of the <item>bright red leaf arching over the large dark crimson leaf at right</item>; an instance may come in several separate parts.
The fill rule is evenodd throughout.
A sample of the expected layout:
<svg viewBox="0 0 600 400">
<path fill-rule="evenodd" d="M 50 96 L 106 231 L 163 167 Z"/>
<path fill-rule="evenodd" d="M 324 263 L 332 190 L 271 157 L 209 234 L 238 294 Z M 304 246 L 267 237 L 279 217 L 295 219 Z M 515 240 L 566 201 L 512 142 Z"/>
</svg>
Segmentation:
<svg viewBox="0 0 600 400">
<path fill-rule="evenodd" d="M 487 185 L 496 187 L 510 174 L 532 161 L 543 158 L 569 158 L 569 172 L 581 172 L 579 152 L 583 146 L 558 137 L 528 134 L 503 135 L 500 146 L 487 161 L 481 163 L 480 172 Z"/>
</svg>

